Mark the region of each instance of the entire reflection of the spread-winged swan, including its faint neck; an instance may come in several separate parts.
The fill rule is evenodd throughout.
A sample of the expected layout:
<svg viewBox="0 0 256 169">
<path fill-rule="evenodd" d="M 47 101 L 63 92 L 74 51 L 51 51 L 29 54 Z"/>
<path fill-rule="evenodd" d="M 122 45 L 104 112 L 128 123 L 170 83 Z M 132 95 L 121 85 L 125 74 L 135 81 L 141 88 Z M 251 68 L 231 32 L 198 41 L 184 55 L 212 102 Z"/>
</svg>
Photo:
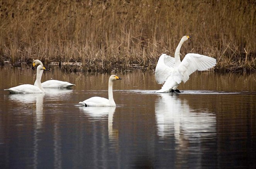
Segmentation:
<svg viewBox="0 0 256 169">
<path fill-rule="evenodd" d="M 162 93 L 159 96 L 155 103 L 159 138 L 166 141 L 174 136 L 175 150 L 178 150 L 176 165 L 179 159 L 188 157 L 188 152 L 195 153 L 193 156 L 198 156 L 197 162 L 200 164 L 203 154 L 202 142 L 216 138 L 215 115 L 193 109 L 185 99 L 179 99 L 178 94 Z"/>
</svg>

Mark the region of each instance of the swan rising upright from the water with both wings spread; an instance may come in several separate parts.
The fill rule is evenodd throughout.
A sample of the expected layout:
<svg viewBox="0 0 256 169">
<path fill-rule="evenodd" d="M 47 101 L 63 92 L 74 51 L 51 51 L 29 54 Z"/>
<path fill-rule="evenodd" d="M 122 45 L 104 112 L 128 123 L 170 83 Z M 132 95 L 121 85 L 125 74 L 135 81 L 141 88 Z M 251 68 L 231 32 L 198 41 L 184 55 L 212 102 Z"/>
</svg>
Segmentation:
<svg viewBox="0 0 256 169">
<path fill-rule="evenodd" d="M 175 57 L 162 54 L 159 57 L 155 70 L 155 79 L 158 84 L 164 84 L 156 93 L 178 92 L 178 85 L 189 79 L 196 70 L 208 70 L 216 65 L 216 59 L 209 56 L 200 55 L 197 53 L 188 53 L 180 61 L 180 48 L 182 44 L 191 38 L 191 36 L 183 36 L 179 45 L 175 50 Z"/>
</svg>

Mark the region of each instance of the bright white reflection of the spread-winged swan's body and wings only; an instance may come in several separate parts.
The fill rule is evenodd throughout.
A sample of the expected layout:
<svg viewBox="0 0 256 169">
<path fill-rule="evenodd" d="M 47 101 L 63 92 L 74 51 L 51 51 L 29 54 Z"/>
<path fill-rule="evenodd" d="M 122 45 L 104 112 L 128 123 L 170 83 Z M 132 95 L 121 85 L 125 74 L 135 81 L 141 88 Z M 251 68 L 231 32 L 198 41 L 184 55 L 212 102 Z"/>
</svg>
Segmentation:
<svg viewBox="0 0 256 169">
<path fill-rule="evenodd" d="M 159 136 L 174 134 L 179 139 L 181 129 L 182 135 L 187 139 L 216 133 L 214 114 L 191 109 L 177 95 L 162 93 L 160 96 L 155 104 Z"/>
</svg>

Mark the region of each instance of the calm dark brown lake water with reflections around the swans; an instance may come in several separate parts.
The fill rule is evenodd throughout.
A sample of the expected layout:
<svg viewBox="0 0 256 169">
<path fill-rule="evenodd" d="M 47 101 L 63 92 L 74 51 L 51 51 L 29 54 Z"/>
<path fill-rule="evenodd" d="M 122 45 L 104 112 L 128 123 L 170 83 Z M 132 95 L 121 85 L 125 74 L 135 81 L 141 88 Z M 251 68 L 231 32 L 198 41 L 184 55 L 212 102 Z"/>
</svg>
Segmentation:
<svg viewBox="0 0 256 169">
<path fill-rule="evenodd" d="M 76 86 L 8 94 L 36 71 L 0 68 L 0 168 L 256 167 L 256 74 L 194 73 L 180 94 L 154 93 L 152 73 L 117 75 L 117 106 L 93 108 L 78 102 L 107 97 L 109 74 L 56 67 L 42 81 Z"/>
</svg>

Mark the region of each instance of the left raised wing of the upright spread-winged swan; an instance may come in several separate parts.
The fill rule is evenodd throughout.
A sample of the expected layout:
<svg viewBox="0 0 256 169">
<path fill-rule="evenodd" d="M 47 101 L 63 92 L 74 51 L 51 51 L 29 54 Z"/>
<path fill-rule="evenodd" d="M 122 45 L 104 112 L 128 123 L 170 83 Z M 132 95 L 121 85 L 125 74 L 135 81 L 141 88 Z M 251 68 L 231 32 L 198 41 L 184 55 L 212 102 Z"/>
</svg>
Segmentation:
<svg viewBox="0 0 256 169">
<path fill-rule="evenodd" d="M 166 54 L 159 57 L 155 70 L 155 78 L 158 84 L 163 84 L 170 76 L 174 66 L 174 58 Z"/>
</svg>

